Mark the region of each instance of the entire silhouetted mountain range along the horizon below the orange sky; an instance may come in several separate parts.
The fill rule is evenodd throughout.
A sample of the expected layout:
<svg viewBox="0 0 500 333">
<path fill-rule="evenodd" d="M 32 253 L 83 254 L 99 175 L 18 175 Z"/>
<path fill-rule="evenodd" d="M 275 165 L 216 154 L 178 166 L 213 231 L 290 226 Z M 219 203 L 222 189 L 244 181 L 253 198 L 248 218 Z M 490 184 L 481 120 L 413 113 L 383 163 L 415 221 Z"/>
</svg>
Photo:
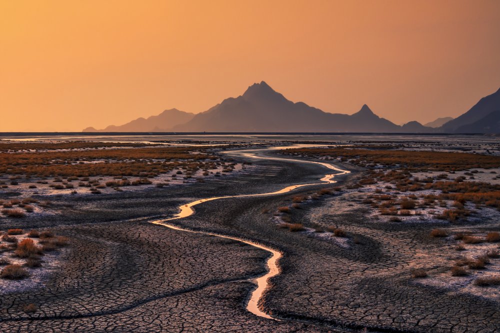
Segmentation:
<svg viewBox="0 0 500 333">
<path fill-rule="evenodd" d="M 87 127 L 83 132 L 498 133 L 500 112 L 493 112 L 496 110 L 500 110 L 500 89 L 455 119 L 438 118 L 426 126 L 410 121 L 399 126 L 378 117 L 366 104 L 352 115 L 328 113 L 303 102 L 292 102 L 261 81 L 242 95 L 226 98 L 204 112 L 170 109 L 102 130 Z"/>
</svg>

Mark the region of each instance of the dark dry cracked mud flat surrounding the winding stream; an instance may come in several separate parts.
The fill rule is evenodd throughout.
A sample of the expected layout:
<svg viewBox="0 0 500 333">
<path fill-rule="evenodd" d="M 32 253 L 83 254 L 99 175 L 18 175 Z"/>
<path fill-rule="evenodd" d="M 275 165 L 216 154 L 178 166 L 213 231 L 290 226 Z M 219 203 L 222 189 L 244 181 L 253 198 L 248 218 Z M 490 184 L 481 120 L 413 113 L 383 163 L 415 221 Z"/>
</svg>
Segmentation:
<svg viewBox="0 0 500 333">
<path fill-rule="evenodd" d="M 243 157 L 238 157 L 244 160 Z M 275 191 L 313 183 L 323 167 L 252 160 L 251 171 L 224 182 L 78 198 L 51 198 L 57 214 L 15 221 L 70 238 L 59 265 L 30 288 L 2 293 L 1 332 L 500 332 L 498 303 L 419 284 L 415 263 L 443 251 L 432 224 L 380 223 L 348 193 L 321 196 L 292 212 L 306 227 L 335 225 L 357 236 L 344 242 L 276 227 L 272 212 L 297 194 L 220 199 L 174 223 L 254 240 L 283 253 L 260 306 L 278 320 L 245 309 L 269 253 L 243 243 L 153 225 L 199 198 Z M 355 181 L 359 170 L 337 177 Z M 353 203 L 348 206 L 347 203 Z M 270 213 L 262 213 L 263 211 Z M 494 224 L 497 221 L 483 222 Z M 11 227 L 12 220 L 0 220 Z M 442 227 L 442 226 L 441 226 Z M 437 269 L 437 268 L 436 268 Z M 16 283 L 16 282 L 13 282 Z M 38 306 L 23 312 L 25 304 Z"/>
</svg>

